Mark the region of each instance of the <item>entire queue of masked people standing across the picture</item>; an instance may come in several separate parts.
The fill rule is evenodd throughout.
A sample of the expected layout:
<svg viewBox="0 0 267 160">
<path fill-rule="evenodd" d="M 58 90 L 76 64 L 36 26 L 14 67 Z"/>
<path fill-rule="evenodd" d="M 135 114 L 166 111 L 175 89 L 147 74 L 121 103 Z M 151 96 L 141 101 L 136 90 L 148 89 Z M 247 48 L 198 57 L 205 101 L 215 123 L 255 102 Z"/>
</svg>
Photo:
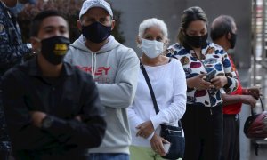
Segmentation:
<svg viewBox="0 0 267 160">
<path fill-rule="evenodd" d="M 0 1 L 7 15 L 10 2 L 15 3 Z M 13 33 L 0 20 L 0 46 L 4 46 Z M 25 45 L 36 57 L 12 63 L 15 67 L 1 77 L 12 156 L 18 160 L 162 159 L 168 142 L 160 137 L 160 124 L 177 126 L 182 119 L 183 159 L 238 160 L 241 103 L 255 107 L 260 91 L 241 88 L 226 52 L 235 44 L 234 20 L 229 16 L 214 20 L 215 44 L 207 41 L 207 21 L 200 7 L 184 10 L 177 43 L 170 46 L 163 20 L 142 21 L 136 37 L 142 51 L 138 59 L 133 49 L 110 35 L 115 21 L 104 0 L 84 2 L 77 20 L 81 36 L 73 44 L 60 13 L 37 14 L 31 24 L 32 48 Z M 5 44 L 11 47 L 12 40 Z M 12 52 L 0 51 L 0 56 L 17 59 Z M 140 62 L 149 75 L 158 114 Z M 206 74 L 212 71 L 215 76 L 208 80 Z"/>
</svg>

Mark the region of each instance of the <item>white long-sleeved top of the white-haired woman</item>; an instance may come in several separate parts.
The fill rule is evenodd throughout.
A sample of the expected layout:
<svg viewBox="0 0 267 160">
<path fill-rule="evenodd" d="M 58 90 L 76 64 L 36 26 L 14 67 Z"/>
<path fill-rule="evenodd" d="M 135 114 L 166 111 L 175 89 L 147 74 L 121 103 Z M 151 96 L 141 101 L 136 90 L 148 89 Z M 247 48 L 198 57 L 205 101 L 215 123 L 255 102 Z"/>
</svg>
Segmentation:
<svg viewBox="0 0 267 160">
<path fill-rule="evenodd" d="M 142 71 L 139 72 L 137 90 L 133 104 L 127 108 L 129 124 L 132 133 L 132 145 L 150 147 L 150 138 L 136 137 L 136 126 L 151 120 L 155 131 L 159 135 L 160 124 L 178 125 L 186 108 L 186 78 L 179 60 L 157 67 L 144 65 L 152 85 L 159 113 L 153 106 L 150 90 Z M 152 133 L 153 134 L 153 133 Z"/>
</svg>

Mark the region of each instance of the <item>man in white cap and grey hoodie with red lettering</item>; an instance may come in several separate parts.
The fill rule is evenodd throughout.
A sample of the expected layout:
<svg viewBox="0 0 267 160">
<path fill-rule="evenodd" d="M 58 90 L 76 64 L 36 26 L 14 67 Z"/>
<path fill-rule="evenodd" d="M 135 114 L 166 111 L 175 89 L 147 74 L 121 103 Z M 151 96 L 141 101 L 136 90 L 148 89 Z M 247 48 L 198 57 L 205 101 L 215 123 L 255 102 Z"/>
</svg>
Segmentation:
<svg viewBox="0 0 267 160">
<path fill-rule="evenodd" d="M 111 30 L 113 12 L 104 0 L 86 0 L 77 28 L 82 35 L 70 44 L 65 60 L 93 76 L 107 113 L 108 129 L 90 159 L 129 159 L 130 130 L 126 108 L 133 102 L 139 60 L 133 49 L 119 44 Z M 89 138 L 88 138 L 89 139 Z"/>
</svg>

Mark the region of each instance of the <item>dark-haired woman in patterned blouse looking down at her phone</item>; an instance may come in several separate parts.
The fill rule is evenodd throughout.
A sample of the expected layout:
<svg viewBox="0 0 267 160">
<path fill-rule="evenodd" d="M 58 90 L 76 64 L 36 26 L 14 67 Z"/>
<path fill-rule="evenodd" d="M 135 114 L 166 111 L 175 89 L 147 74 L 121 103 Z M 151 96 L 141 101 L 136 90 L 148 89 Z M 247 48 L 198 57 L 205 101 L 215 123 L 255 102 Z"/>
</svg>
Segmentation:
<svg viewBox="0 0 267 160">
<path fill-rule="evenodd" d="M 167 56 L 177 58 L 187 78 L 187 106 L 182 117 L 185 160 L 218 160 L 223 142 L 222 93 L 235 91 L 236 75 L 219 45 L 207 39 L 206 13 L 200 7 L 182 12 L 178 43 Z"/>
</svg>

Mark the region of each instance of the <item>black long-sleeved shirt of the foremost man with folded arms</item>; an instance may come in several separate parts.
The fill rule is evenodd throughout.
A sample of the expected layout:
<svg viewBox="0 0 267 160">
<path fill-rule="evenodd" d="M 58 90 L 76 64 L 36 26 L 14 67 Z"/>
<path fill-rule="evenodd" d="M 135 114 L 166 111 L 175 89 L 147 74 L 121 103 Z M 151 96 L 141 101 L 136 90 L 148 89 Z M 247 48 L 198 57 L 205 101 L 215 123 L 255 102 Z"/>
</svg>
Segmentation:
<svg viewBox="0 0 267 160">
<path fill-rule="evenodd" d="M 36 58 L 12 68 L 3 76 L 3 102 L 14 155 L 19 159 L 25 155 L 82 159 L 85 148 L 101 144 L 106 123 L 96 85 L 92 76 L 68 63 L 63 63 L 56 78 L 42 76 Z M 53 124 L 37 128 L 30 111 L 46 113 L 53 117 Z"/>
</svg>

